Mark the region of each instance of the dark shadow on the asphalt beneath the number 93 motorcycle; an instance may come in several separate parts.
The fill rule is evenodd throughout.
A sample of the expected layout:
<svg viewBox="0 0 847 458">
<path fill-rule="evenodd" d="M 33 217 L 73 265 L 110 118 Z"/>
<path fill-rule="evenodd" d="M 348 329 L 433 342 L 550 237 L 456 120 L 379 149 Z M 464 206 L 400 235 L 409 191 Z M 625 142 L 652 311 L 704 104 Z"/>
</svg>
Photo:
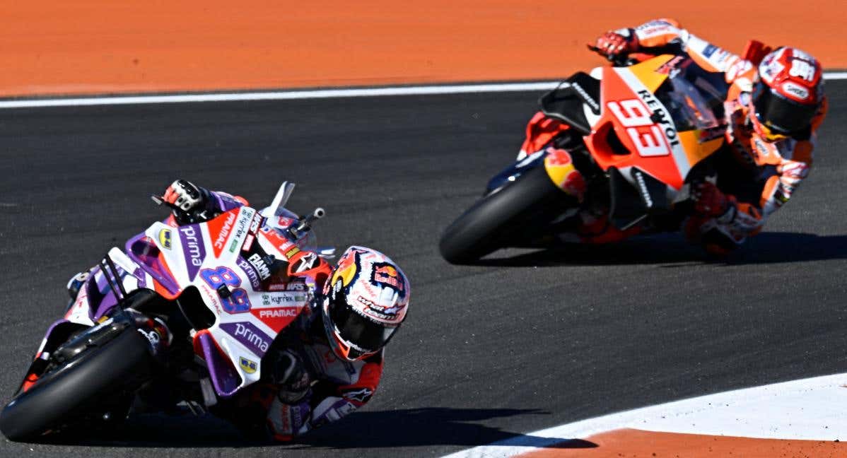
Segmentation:
<svg viewBox="0 0 847 458">
<path fill-rule="evenodd" d="M 495 254 L 496 256 L 496 254 Z M 622 264 L 713 263 L 726 265 L 847 259 L 847 235 L 766 232 L 750 238 L 727 257 L 711 257 L 681 235 L 662 234 L 624 240 L 610 245 L 565 244 L 512 257 L 490 257 L 478 266 L 555 267 Z"/>
</svg>

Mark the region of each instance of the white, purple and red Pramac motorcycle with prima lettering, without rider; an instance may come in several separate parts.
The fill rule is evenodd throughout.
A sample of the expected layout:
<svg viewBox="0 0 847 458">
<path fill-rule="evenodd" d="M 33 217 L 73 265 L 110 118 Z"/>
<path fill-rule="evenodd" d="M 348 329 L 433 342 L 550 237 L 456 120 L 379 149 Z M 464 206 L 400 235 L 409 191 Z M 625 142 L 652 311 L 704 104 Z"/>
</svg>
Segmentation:
<svg viewBox="0 0 847 458">
<path fill-rule="evenodd" d="M 277 334 L 311 311 L 315 288 L 307 277 L 268 286 L 270 266 L 334 251 L 314 245 L 323 209 L 306 217 L 285 209 L 293 189 L 283 183 L 261 212 L 153 223 L 123 251 L 108 251 L 47 329 L 0 431 L 33 440 L 75 423 L 119 422 L 140 405 L 199 414 L 257 382 Z"/>
</svg>

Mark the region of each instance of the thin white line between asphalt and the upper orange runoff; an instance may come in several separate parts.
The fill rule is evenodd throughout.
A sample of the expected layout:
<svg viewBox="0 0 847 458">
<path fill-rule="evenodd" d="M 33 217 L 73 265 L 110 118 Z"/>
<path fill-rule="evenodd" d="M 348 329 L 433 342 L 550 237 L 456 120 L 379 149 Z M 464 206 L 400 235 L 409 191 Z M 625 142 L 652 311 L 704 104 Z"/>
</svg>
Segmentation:
<svg viewBox="0 0 847 458">
<path fill-rule="evenodd" d="M 823 76 L 827 80 L 847 80 L 847 72 L 824 72 Z M 532 83 L 491 83 L 479 85 L 317 89 L 310 91 L 262 91 L 214 94 L 162 94 L 149 96 L 9 99 L 0 101 L 0 109 L 84 107 L 91 105 L 136 105 L 141 103 L 244 102 L 258 100 L 302 100 L 340 97 L 429 96 L 441 94 L 473 94 L 479 92 L 549 91 L 558 84 L 559 81 L 540 81 Z"/>
</svg>

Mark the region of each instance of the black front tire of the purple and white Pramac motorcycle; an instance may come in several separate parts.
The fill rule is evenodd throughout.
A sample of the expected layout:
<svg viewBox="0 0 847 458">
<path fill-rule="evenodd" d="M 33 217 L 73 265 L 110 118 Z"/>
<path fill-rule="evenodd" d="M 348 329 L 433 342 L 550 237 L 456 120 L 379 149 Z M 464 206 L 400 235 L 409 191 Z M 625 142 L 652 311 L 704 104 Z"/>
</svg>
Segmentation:
<svg viewBox="0 0 847 458">
<path fill-rule="evenodd" d="M 36 439 L 77 414 L 95 411 L 102 400 L 137 388 L 151 368 L 147 340 L 135 328 L 128 328 L 102 347 L 47 372 L 16 395 L 0 413 L 0 431 L 9 440 Z"/>
</svg>

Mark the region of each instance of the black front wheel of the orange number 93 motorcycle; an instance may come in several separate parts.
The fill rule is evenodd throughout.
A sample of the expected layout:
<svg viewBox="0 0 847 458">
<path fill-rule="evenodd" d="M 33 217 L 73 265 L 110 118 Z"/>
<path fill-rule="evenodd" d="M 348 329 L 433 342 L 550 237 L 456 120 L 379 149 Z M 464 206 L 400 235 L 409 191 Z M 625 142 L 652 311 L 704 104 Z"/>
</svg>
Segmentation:
<svg viewBox="0 0 847 458">
<path fill-rule="evenodd" d="M 498 248 L 538 235 L 548 223 L 578 202 L 553 184 L 543 165 L 473 204 L 441 236 L 447 262 L 464 264 Z"/>
</svg>

